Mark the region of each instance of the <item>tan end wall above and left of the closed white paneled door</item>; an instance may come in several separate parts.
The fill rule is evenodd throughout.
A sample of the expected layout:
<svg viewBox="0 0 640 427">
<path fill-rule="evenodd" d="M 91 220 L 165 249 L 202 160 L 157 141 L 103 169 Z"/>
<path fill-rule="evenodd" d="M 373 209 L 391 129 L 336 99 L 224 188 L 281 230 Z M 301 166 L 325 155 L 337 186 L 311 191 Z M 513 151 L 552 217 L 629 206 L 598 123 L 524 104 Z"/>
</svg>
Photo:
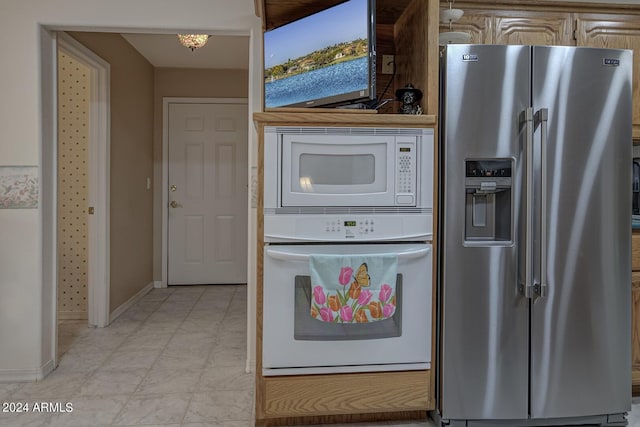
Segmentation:
<svg viewBox="0 0 640 427">
<path fill-rule="evenodd" d="M 249 40 L 247 39 L 247 43 Z M 154 228 L 153 278 L 162 278 L 162 102 L 175 98 L 247 98 L 248 70 L 156 68 L 154 87 Z"/>
</svg>

